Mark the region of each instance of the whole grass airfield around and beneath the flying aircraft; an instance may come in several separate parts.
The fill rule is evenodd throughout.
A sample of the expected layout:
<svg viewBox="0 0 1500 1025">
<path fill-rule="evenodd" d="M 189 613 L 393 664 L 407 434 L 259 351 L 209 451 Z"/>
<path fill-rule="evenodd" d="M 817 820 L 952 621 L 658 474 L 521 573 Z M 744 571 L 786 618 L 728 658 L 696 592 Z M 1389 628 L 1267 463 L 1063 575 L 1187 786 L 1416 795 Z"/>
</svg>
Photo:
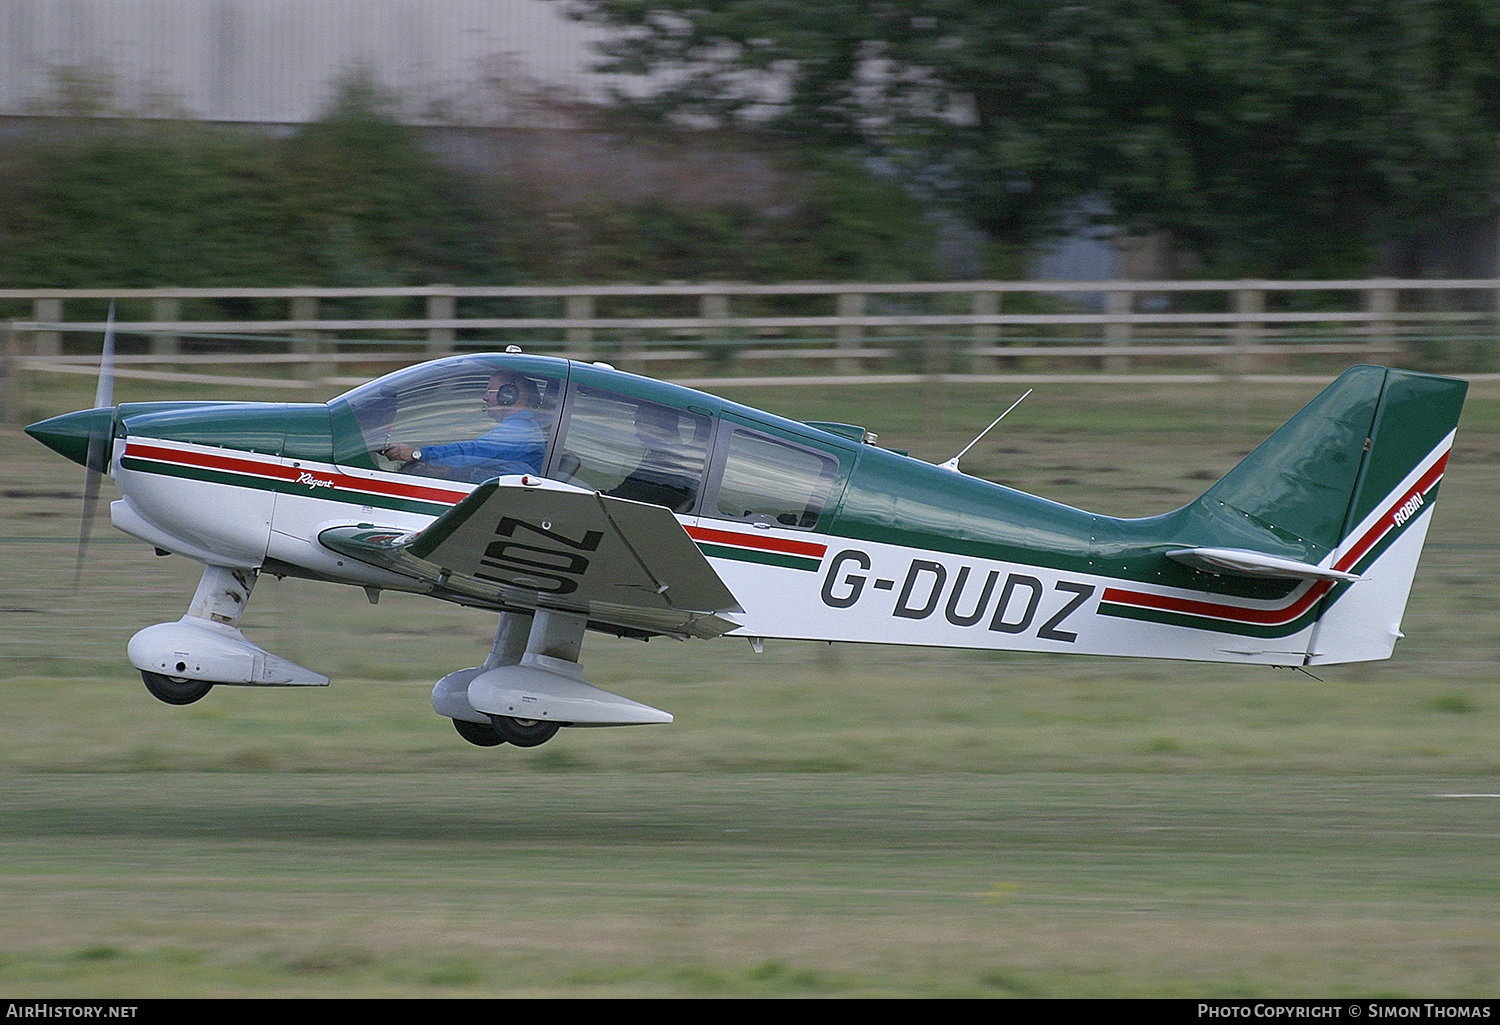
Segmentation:
<svg viewBox="0 0 1500 1025">
<path fill-rule="evenodd" d="M 964 468 L 1161 512 L 1316 390 L 1042 386 Z M 942 461 L 1018 392 L 734 398 Z M 75 588 L 76 467 L 0 444 L 8 996 L 1500 995 L 1497 384 L 1389 662 L 591 638 L 676 722 L 536 750 L 430 710 L 489 617 L 352 588 L 267 579 L 246 615 L 332 687 L 154 702 L 124 642 L 196 567 L 100 522 Z"/>
</svg>

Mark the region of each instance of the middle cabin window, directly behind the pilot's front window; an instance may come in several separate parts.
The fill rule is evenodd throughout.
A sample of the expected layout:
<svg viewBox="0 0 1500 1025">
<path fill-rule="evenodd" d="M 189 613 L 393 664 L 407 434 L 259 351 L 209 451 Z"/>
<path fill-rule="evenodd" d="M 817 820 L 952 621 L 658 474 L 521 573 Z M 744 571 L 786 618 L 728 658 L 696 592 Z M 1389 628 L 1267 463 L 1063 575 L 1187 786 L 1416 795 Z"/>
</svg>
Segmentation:
<svg viewBox="0 0 1500 1025">
<path fill-rule="evenodd" d="M 692 410 L 580 386 L 550 476 L 687 513 L 698 504 L 712 420 Z"/>
</svg>

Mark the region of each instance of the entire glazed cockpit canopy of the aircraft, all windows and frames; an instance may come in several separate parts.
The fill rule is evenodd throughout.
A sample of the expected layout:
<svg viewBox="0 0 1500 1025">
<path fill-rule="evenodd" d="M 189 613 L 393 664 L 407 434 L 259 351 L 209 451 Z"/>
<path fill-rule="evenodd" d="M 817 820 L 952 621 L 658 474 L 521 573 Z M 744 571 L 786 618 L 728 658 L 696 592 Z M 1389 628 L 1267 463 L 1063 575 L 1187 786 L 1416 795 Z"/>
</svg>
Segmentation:
<svg viewBox="0 0 1500 1025">
<path fill-rule="evenodd" d="M 675 513 L 813 528 L 854 446 L 714 396 L 588 363 L 456 356 L 330 402 L 346 467 L 478 483 L 536 474 Z M 420 449 L 405 464 L 393 444 Z"/>
</svg>

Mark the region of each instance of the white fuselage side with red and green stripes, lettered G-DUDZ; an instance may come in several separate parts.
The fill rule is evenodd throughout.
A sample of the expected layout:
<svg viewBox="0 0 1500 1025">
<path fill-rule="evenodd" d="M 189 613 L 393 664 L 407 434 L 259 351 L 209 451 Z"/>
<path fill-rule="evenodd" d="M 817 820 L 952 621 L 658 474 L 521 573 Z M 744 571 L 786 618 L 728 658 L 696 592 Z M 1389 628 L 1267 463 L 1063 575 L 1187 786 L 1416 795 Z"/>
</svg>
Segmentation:
<svg viewBox="0 0 1500 1025">
<path fill-rule="evenodd" d="M 1402 527 L 1378 566 L 1408 581 L 1426 531 L 1424 482 L 1434 471 L 1440 476 L 1443 456 L 1446 449 L 1418 467 L 1330 561 Z M 114 524 L 158 548 L 232 569 L 285 567 L 418 593 L 430 587 L 332 552 L 318 534 L 352 524 L 416 533 L 474 491 L 466 483 L 154 438 L 118 441 L 114 476 L 123 492 L 112 506 Z M 1326 647 L 1335 632 L 1324 630 L 1324 650 L 1308 611 L 1328 582 L 1306 581 L 1276 599 L 1206 599 L 1104 573 L 766 524 L 676 519 L 742 608 L 734 617 L 738 635 L 1270 665 L 1386 657 L 1400 636 L 1401 609 L 1384 608 L 1382 596 L 1390 588 L 1374 581 L 1354 584 L 1341 602 L 1341 618 L 1353 617 L 1346 626 L 1359 644 Z M 1166 621 L 1154 621 L 1156 612 Z M 1184 617 L 1196 618 L 1197 629 L 1184 629 Z M 1275 629 L 1298 620 L 1305 626 Z"/>
</svg>

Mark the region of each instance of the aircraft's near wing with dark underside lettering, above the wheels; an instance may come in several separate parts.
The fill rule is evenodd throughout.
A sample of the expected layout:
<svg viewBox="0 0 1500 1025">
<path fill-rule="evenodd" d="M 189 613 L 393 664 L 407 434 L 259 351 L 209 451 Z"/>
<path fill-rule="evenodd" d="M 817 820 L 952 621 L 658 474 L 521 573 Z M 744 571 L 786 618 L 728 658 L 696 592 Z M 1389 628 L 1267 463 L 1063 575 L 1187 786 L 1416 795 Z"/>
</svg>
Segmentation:
<svg viewBox="0 0 1500 1025">
<path fill-rule="evenodd" d="M 501 477 L 424 530 L 330 527 L 326 548 L 454 600 L 554 608 L 648 633 L 718 636 L 742 609 L 662 506 Z"/>
</svg>

